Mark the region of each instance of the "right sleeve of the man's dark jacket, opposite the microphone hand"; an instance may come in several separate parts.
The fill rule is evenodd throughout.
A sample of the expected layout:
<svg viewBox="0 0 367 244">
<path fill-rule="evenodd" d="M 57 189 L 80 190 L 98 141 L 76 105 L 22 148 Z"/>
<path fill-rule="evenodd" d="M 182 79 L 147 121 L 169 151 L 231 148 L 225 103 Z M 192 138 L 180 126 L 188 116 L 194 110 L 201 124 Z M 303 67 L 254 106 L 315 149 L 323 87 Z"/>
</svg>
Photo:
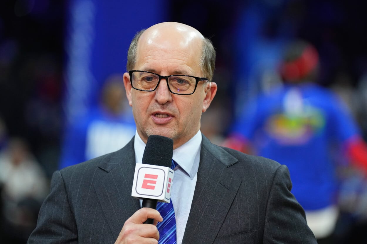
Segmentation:
<svg viewBox="0 0 367 244">
<path fill-rule="evenodd" d="M 264 244 L 317 244 L 291 188 L 288 168 L 281 165 L 276 170 L 266 205 Z"/>
</svg>

